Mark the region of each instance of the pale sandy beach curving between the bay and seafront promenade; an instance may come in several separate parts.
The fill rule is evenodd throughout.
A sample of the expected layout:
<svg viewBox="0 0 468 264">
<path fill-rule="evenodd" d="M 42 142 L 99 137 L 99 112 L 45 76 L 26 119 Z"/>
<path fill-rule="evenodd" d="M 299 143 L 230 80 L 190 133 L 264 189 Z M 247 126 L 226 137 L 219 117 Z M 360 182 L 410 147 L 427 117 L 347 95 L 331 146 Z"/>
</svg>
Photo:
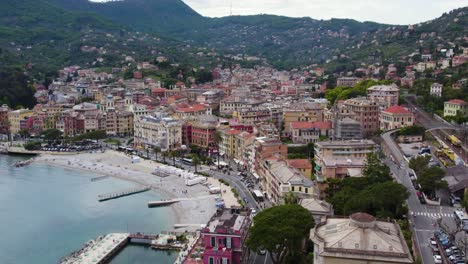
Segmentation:
<svg viewBox="0 0 468 264">
<path fill-rule="evenodd" d="M 156 167 L 162 166 L 160 163 L 145 159 L 141 159 L 139 163 L 132 163 L 130 156 L 117 151 L 106 150 L 104 153 L 75 155 L 41 154 L 35 158 L 35 162 L 93 172 L 139 185 L 151 186 L 153 191 L 164 196 L 165 199 L 186 198 L 186 200 L 171 206 L 175 214 L 175 219 L 172 221 L 174 224 L 206 224 L 216 212 L 216 196 L 222 196 L 226 207 L 237 205 L 237 200 L 230 187 L 221 184 L 217 179 L 208 178 L 208 182 L 213 186 L 220 187 L 222 193 L 210 195 L 207 186 L 200 184 L 186 186 L 185 180 L 178 175 L 161 178 L 151 174 Z M 182 230 L 193 229 L 195 227 L 191 226 Z"/>
</svg>

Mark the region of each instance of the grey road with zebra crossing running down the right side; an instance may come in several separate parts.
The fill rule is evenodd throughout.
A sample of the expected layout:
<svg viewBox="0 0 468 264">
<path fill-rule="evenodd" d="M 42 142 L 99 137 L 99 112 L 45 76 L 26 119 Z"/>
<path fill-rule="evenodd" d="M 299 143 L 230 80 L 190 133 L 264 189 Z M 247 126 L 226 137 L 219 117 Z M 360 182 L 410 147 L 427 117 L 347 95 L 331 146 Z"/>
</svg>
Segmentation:
<svg viewBox="0 0 468 264">
<path fill-rule="evenodd" d="M 453 211 L 449 206 L 432 206 L 421 204 L 416 195 L 416 190 L 408 177 L 408 162 L 398 148 L 397 144 L 391 138 L 392 132 L 382 134 L 382 139 L 387 144 L 392 153 L 392 159 L 385 159 L 384 163 L 390 167 L 395 179 L 403 184 L 410 192 L 407 205 L 409 209 L 409 219 L 413 224 L 413 232 L 415 234 L 416 243 L 419 252 L 421 253 L 423 263 L 434 263 L 432 250 L 429 247 L 428 241 L 433 237 L 434 231 L 439 229 L 437 220 L 442 219 L 441 225 L 453 226 Z"/>
</svg>

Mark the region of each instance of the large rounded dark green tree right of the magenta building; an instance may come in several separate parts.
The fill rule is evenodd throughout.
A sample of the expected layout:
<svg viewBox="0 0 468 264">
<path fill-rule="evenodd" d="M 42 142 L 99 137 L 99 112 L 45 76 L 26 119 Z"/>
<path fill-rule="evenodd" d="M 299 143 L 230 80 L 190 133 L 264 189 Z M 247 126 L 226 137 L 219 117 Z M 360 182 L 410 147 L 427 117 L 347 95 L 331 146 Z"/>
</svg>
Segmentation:
<svg viewBox="0 0 468 264">
<path fill-rule="evenodd" d="M 253 222 L 246 241 L 251 250 L 267 250 L 275 264 L 305 257 L 304 240 L 315 225 L 307 209 L 297 204 L 273 206 L 258 213 Z"/>
</svg>

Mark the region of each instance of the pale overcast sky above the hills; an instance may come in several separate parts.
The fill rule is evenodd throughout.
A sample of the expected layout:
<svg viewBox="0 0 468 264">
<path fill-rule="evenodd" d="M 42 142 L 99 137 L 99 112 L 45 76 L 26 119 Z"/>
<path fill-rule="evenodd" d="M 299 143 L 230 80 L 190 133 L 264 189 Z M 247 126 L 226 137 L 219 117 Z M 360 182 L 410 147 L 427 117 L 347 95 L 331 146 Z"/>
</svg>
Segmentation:
<svg viewBox="0 0 468 264">
<path fill-rule="evenodd" d="M 209 17 L 228 16 L 231 5 L 231 0 L 183 1 Z M 463 6 L 468 6 L 468 0 L 232 0 L 232 14 L 353 18 L 387 24 L 414 24 Z"/>
</svg>

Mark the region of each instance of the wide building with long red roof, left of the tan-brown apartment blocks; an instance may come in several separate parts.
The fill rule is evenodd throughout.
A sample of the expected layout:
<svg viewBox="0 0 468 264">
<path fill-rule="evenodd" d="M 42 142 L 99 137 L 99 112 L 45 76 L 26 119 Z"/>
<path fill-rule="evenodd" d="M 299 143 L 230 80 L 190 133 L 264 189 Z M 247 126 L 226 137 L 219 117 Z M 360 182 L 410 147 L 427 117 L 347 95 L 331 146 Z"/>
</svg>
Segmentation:
<svg viewBox="0 0 468 264">
<path fill-rule="evenodd" d="M 294 144 L 315 143 L 320 137 L 328 137 L 332 124 L 330 121 L 322 122 L 291 122 L 291 139 Z"/>
</svg>

